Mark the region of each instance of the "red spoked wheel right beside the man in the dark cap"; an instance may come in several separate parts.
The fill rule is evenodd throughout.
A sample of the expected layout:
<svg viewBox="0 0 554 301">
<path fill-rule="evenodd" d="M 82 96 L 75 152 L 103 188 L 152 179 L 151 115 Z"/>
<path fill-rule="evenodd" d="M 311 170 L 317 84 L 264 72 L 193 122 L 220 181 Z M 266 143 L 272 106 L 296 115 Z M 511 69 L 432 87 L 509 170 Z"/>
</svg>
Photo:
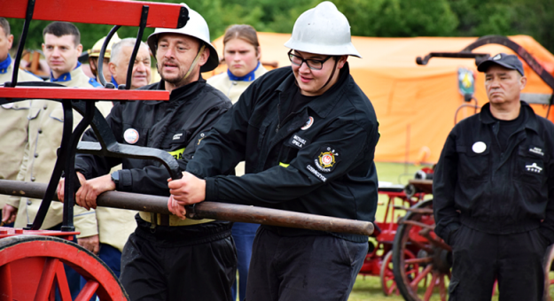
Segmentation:
<svg viewBox="0 0 554 301">
<path fill-rule="evenodd" d="M 433 229 L 432 200 L 412 206 L 399 221 L 393 244 L 394 279 L 405 300 L 428 301 L 434 292 L 441 301 L 447 300 L 451 249 Z M 408 258 L 406 251 L 416 258 Z"/>
</svg>

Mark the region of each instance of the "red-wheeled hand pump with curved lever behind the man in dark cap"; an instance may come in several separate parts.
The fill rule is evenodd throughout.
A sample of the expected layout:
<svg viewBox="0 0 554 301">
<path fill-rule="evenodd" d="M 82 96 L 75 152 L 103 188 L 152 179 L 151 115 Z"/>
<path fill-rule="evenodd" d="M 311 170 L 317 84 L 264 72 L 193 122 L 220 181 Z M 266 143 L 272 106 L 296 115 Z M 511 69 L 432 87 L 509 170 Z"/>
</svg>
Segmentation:
<svg viewBox="0 0 554 301">
<path fill-rule="evenodd" d="M 460 52 L 432 52 L 425 58 L 417 58 L 417 64 L 426 65 L 430 58 L 475 58 L 475 64 L 487 59 L 487 53 L 473 53 L 472 50 L 496 43 L 513 50 L 528 66 L 554 91 L 554 77 L 536 62 L 527 50 L 507 37 L 499 35 L 483 36 Z M 526 95 L 525 100 L 532 104 L 552 105 L 551 96 Z M 547 118 L 548 113 L 547 112 Z M 433 193 L 433 181 L 411 180 L 412 191 Z M 452 262 L 451 248 L 434 234 L 433 201 L 425 200 L 408 209 L 408 213 L 399 220 L 393 243 L 394 279 L 402 297 L 408 301 L 428 301 L 438 291 L 441 301 L 447 300 L 447 286 Z M 415 256 L 412 257 L 411 253 Z M 544 300 L 550 300 L 550 286 L 554 279 L 550 277 L 554 261 L 554 247 L 550 246 L 545 255 L 545 292 Z"/>
</svg>

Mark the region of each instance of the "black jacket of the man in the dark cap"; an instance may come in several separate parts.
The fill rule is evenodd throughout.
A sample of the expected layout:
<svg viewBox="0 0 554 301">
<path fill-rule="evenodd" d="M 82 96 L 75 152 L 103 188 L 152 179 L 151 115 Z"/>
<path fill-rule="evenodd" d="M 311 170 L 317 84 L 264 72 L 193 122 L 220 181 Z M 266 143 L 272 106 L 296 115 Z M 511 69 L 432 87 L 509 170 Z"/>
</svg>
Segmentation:
<svg viewBox="0 0 554 301">
<path fill-rule="evenodd" d="M 435 232 L 447 242 L 460 223 L 497 235 L 540 228 L 554 242 L 554 125 L 525 102 L 520 112 L 505 151 L 489 104 L 450 132 L 433 177 Z"/>
</svg>

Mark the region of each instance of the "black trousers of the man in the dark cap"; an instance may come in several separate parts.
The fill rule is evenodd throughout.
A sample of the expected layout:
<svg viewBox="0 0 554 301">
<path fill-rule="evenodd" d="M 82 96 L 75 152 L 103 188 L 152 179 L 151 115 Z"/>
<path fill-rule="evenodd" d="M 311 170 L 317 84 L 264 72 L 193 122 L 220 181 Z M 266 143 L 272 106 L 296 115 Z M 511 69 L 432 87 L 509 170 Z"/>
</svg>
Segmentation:
<svg viewBox="0 0 554 301">
<path fill-rule="evenodd" d="M 542 300 L 548 243 L 538 229 L 491 235 L 462 226 L 452 235 L 449 301 L 490 301 L 495 280 L 499 301 Z"/>
</svg>

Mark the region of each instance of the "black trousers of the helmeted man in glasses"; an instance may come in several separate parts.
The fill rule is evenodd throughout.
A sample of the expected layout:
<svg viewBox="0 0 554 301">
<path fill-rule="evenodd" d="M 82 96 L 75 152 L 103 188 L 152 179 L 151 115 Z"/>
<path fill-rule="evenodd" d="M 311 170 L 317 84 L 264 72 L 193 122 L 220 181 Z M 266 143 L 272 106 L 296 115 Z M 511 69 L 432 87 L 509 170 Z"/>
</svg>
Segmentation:
<svg viewBox="0 0 554 301">
<path fill-rule="evenodd" d="M 285 236 L 261 226 L 254 239 L 247 301 L 347 300 L 368 243 L 332 235 Z"/>
</svg>

